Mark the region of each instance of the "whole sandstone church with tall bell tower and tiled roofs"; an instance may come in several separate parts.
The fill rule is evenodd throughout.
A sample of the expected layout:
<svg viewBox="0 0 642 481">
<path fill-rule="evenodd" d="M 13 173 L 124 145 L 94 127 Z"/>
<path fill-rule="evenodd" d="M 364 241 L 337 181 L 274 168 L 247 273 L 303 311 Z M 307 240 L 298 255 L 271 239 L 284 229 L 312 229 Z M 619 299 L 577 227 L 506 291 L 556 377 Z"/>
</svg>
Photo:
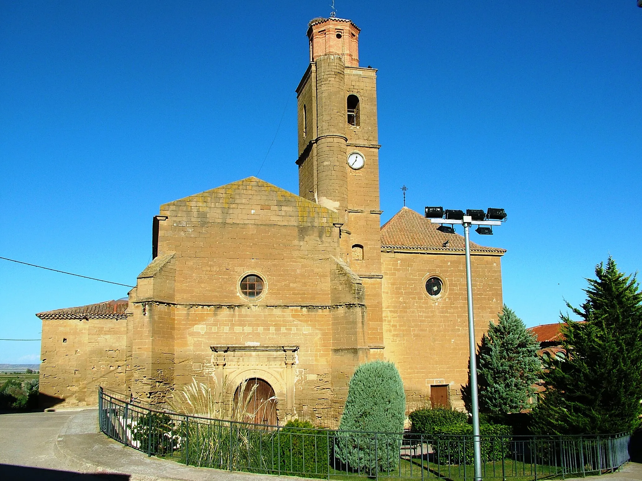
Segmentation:
<svg viewBox="0 0 642 481">
<path fill-rule="evenodd" d="M 127 299 L 37 314 L 55 409 L 96 405 L 98 386 L 162 405 L 193 379 L 228 400 L 249 382 L 270 406 L 254 421 L 332 426 L 374 359 L 395 363 L 409 410 L 463 408 L 464 238 L 406 207 L 381 226 L 377 70 L 360 67 L 359 34 L 309 22 L 299 195 L 248 177 L 163 204 Z M 501 311 L 504 253 L 471 242 L 478 341 Z"/>
</svg>

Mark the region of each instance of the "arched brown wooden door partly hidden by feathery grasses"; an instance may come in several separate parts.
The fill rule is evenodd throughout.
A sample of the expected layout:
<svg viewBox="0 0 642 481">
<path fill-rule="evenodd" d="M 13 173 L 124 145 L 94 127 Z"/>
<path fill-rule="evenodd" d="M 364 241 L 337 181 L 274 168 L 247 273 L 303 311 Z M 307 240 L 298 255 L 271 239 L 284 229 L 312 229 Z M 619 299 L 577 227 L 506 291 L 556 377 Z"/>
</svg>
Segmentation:
<svg viewBox="0 0 642 481">
<path fill-rule="evenodd" d="M 239 406 L 241 392 L 243 402 Z M 246 423 L 277 425 L 277 397 L 266 380 L 250 378 L 239 384 L 234 392 L 234 404 L 237 409 L 240 407 L 246 413 Z"/>
</svg>

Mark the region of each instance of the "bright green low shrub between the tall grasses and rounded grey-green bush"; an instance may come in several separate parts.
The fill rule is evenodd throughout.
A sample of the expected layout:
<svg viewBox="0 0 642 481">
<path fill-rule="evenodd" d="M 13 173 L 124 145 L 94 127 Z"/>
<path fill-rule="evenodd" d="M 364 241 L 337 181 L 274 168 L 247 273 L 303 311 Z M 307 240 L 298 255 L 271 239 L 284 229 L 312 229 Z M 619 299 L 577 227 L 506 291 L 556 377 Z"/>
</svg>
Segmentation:
<svg viewBox="0 0 642 481">
<path fill-rule="evenodd" d="M 281 474 L 325 478 L 328 470 L 328 435 L 308 421 L 293 419 L 280 430 L 277 446 Z"/>
</svg>

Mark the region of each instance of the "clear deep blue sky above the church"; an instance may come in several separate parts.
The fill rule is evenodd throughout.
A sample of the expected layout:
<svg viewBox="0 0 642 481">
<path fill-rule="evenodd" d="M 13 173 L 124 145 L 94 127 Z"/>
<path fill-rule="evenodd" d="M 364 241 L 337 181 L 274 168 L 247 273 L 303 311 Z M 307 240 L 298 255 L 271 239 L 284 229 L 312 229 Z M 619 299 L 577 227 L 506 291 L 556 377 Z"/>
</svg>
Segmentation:
<svg viewBox="0 0 642 481">
<path fill-rule="evenodd" d="M 329 0 L 0 1 L 0 256 L 125 284 L 161 203 L 257 175 L 297 192 L 307 22 Z M 505 302 L 526 325 L 640 267 L 642 8 L 635 0 L 336 1 L 378 72 L 383 221 L 504 207 Z M 276 137 L 279 120 L 284 114 Z M 474 274 L 474 273 L 473 273 Z M 0 337 L 127 288 L 0 260 Z M 0 362 L 39 342 L 0 341 Z"/>
</svg>

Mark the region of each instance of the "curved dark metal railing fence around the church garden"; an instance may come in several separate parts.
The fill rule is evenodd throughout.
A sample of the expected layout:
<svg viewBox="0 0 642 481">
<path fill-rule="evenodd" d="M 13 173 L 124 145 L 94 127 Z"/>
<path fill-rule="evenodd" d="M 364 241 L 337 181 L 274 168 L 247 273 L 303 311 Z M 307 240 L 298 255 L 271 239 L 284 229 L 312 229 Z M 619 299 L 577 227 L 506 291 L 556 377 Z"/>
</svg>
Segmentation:
<svg viewBox="0 0 642 481">
<path fill-rule="evenodd" d="M 100 430 L 185 464 L 311 478 L 473 478 L 472 435 L 345 432 L 266 426 L 150 409 L 99 390 Z M 629 434 L 482 435 L 484 478 L 537 480 L 614 471 Z"/>
</svg>

